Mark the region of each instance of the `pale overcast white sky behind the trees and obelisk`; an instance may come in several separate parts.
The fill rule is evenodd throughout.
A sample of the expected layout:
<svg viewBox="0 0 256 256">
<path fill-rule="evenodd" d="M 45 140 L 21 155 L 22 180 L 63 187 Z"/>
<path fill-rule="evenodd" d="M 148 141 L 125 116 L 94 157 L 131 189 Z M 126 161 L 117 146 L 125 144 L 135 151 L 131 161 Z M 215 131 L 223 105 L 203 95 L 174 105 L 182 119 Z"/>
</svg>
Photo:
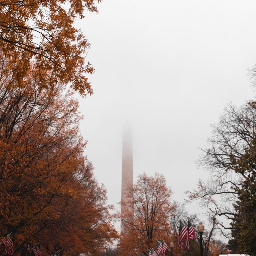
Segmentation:
<svg viewBox="0 0 256 256">
<path fill-rule="evenodd" d="M 103 0 L 77 22 L 91 43 L 94 95 L 79 98 L 85 154 L 110 204 L 121 200 L 122 126 L 133 127 L 133 172 L 163 173 L 173 198 L 196 188 L 211 123 L 254 99 L 256 1 Z M 196 204 L 188 206 L 197 212 Z M 202 217 L 203 218 L 203 217 Z"/>
</svg>

